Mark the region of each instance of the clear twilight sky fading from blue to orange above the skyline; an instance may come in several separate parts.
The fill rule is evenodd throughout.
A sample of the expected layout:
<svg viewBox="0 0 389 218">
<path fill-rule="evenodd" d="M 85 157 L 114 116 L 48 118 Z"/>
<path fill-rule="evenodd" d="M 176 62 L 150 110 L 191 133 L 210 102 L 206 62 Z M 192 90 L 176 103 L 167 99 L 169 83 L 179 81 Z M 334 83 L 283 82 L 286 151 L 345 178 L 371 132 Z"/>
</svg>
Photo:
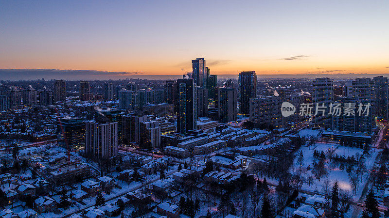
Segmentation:
<svg viewBox="0 0 389 218">
<path fill-rule="evenodd" d="M 0 69 L 114 79 L 181 75 L 205 58 L 219 75 L 389 73 L 388 9 L 387 0 L 0 0 Z"/>
</svg>

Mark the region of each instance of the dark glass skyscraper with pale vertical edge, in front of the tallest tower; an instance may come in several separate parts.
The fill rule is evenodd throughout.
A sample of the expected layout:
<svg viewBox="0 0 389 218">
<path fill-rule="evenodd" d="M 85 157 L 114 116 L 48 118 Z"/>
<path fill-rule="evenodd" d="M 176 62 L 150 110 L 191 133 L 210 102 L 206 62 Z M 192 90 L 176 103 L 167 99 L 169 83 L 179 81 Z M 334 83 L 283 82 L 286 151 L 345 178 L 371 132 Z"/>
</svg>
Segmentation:
<svg viewBox="0 0 389 218">
<path fill-rule="evenodd" d="M 196 128 L 197 120 L 197 97 L 196 83 L 192 78 L 177 79 L 178 91 L 178 116 L 177 131 L 184 136 L 188 130 Z"/>
</svg>

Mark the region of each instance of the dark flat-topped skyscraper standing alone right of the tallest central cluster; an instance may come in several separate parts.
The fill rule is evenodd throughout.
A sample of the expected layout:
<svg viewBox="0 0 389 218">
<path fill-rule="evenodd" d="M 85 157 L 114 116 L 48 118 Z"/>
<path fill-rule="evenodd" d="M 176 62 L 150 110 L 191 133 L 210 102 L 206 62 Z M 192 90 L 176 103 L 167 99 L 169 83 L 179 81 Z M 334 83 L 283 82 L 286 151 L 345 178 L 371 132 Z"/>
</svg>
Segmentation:
<svg viewBox="0 0 389 218">
<path fill-rule="evenodd" d="M 250 113 L 250 98 L 257 97 L 257 75 L 254 71 L 242 71 L 239 74 L 239 111 Z"/>
</svg>

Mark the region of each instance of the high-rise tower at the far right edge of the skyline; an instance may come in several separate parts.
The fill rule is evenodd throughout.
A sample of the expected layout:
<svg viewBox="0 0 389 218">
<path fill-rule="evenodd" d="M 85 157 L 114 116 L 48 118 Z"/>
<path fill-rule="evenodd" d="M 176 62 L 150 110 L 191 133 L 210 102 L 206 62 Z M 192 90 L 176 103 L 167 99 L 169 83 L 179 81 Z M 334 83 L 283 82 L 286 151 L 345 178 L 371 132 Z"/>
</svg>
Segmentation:
<svg viewBox="0 0 389 218">
<path fill-rule="evenodd" d="M 375 92 L 376 92 L 376 115 L 380 118 L 388 118 L 388 78 L 380 76 L 374 77 Z"/>
</svg>

